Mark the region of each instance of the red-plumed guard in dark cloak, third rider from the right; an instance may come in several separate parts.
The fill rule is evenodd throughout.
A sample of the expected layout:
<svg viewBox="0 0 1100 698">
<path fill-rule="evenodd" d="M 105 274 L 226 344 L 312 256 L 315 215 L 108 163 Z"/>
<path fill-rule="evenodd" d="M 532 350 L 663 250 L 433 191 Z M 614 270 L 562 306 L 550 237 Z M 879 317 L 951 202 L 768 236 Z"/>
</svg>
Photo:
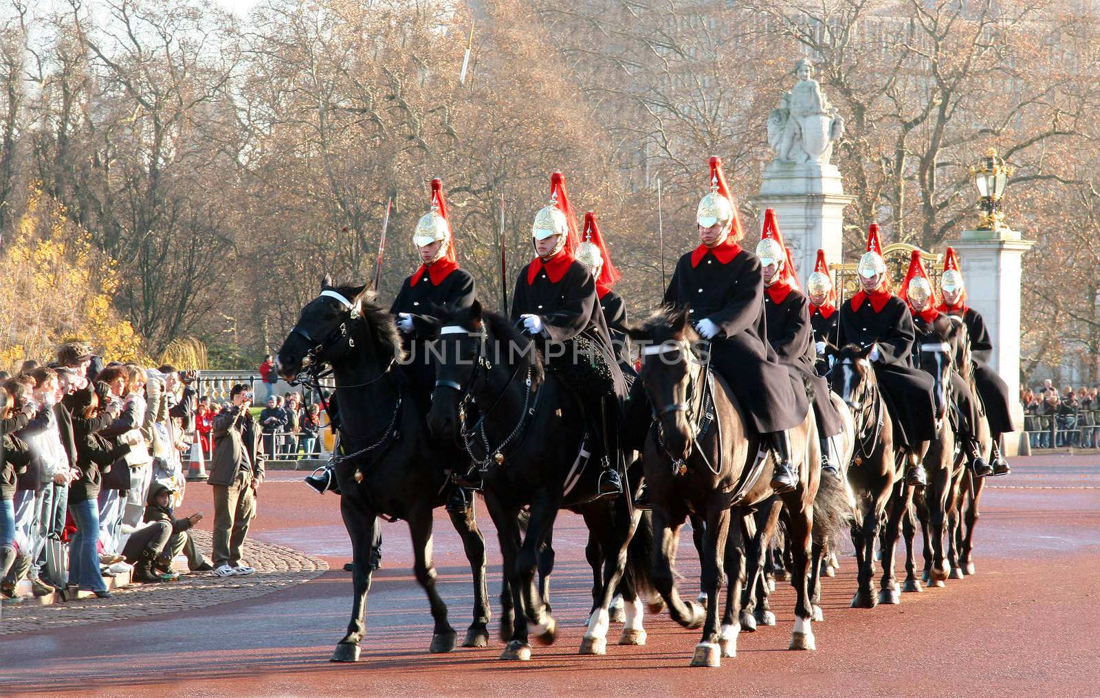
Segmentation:
<svg viewBox="0 0 1100 698">
<path fill-rule="evenodd" d="M 840 308 L 837 346 L 871 348 L 868 359 L 893 419 L 895 447 L 909 458 L 905 478 L 926 484 L 921 457 L 926 441 L 936 438 L 934 381 L 910 362 L 916 332 L 909 306 L 891 293 L 877 223 L 870 226 L 857 272 L 861 290 Z"/>
</svg>

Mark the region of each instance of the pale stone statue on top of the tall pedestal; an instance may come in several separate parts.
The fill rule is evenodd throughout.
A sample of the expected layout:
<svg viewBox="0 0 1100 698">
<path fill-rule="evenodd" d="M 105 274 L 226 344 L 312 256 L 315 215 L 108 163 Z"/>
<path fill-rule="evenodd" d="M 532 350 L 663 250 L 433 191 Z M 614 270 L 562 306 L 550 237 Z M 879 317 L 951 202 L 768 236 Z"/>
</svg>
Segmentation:
<svg viewBox="0 0 1100 698">
<path fill-rule="evenodd" d="M 827 165 L 833 144 L 844 135 L 844 119 L 813 79 L 813 64 L 799 61 L 794 74 L 799 81 L 768 114 L 768 144 L 776 151 L 776 162 Z"/>
</svg>

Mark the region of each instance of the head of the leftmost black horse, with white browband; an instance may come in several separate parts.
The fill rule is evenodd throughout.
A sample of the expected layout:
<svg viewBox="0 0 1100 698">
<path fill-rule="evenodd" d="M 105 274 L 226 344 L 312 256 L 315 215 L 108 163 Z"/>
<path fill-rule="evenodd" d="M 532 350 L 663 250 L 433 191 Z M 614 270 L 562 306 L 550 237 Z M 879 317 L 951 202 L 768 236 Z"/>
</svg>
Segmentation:
<svg viewBox="0 0 1100 698">
<path fill-rule="evenodd" d="M 393 320 L 365 296 L 366 286 L 336 286 L 328 274 L 316 298 L 301 308 L 298 321 L 275 355 L 275 368 L 287 380 L 314 364 L 336 364 L 352 352 L 400 352 Z M 356 345 L 355 323 L 371 326 L 378 347 Z M 398 357 L 399 358 L 399 357 Z"/>
</svg>

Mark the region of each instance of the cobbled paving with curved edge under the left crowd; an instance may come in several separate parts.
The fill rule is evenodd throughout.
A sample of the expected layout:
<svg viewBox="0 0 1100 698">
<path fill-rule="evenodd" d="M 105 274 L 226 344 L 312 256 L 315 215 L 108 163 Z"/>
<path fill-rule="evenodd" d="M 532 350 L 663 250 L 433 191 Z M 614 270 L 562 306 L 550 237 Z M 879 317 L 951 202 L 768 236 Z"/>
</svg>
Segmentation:
<svg viewBox="0 0 1100 698">
<path fill-rule="evenodd" d="M 209 557 L 210 534 L 193 531 L 193 535 L 199 550 Z M 241 601 L 309 581 L 329 568 L 319 557 L 257 541 L 244 543 L 244 560 L 256 568 L 255 574 L 222 579 L 210 572 L 180 570 L 178 581 L 132 584 L 113 590 L 112 599 L 92 598 L 53 606 L 4 606 L 0 610 L 0 635 L 136 619 Z"/>
</svg>

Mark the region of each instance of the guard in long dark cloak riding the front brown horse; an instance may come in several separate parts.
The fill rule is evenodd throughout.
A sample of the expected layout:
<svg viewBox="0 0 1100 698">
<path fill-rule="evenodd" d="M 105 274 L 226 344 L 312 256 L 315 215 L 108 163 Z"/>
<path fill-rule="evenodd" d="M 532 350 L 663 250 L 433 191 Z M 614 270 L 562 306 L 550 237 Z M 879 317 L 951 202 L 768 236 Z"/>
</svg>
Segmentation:
<svg viewBox="0 0 1100 698">
<path fill-rule="evenodd" d="M 776 457 L 772 489 L 790 492 L 799 476 L 788 429 L 802 424 L 809 403 L 767 341 L 760 260 L 739 244 L 745 231 L 716 156 L 711 157 L 711 192 L 700 201 L 695 221 L 700 244 L 676 262 L 664 302 L 686 307 L 695 330 L 710 340 L 712 368 Z"/>
</svg>

